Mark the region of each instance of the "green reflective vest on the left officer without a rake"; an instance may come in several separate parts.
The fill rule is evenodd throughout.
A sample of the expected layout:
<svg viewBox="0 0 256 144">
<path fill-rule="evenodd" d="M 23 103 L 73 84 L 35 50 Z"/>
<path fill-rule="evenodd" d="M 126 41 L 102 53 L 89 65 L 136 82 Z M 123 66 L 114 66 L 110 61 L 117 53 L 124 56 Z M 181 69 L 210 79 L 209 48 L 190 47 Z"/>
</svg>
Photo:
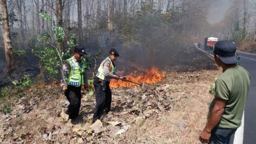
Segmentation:
<svg viewBox="0 0 256 144">
<path fill-rule="evenodd" d="M 79 87 L 84 85 L 84 73 L 85 73 L 85 64 L 83 61 L 81 61 L 79 66 L 79 63 L 75 59 L 75 57 L 71 57 L 68 60 L 68 63 L 70 65 L 70 72 L 68 75 L 67 84 L 71 86 Z"/>
</svg>

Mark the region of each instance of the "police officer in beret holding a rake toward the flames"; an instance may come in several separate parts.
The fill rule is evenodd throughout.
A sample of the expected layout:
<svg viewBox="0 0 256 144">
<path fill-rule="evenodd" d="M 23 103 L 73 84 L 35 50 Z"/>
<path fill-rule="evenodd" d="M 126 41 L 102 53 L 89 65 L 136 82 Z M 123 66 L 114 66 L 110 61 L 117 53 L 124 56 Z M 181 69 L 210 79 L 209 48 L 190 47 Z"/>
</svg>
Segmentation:
<svg viewBox="0 0 256 144">
<path fill-rule="evenodd" d="M 94 109 L 94 115 L 92 123 L 94 123 L 97 119 L 100 119 L 103 109 L 108 113 L 111 107 L 111 91 L 109 88 L 110 79 L 123 80 L 125 81 L 125 77 L 119 77 L 115 75 L 115 61 L 119 56 L 118 52 L 115 49 L 111 49 L 108 57 L 103 60 L 98 69 L 97 75 L 94 77 L 93 84 L 95 88 L 95 96 L 96 96 L 96 106 Z"/>
</svg>

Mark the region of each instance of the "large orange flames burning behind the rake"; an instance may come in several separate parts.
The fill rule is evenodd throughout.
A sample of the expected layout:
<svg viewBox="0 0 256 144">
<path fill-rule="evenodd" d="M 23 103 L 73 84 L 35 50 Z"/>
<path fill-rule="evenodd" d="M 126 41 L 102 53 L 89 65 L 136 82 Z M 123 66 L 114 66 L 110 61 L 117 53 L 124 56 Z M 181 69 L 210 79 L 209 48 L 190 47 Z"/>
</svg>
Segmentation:
<svg viewBox="0 0 256 144">
<path fill-rule="evenodd" d="M 142 83 L 145 82 L 147 84 L 153 84 L 155 82 L 159 82 L 164 78 L 164 73 L 159 72 L 158 68 L 152 67 L 151 69 L 145 70 L 146 73 L 138 73 L 137 71 L 133 71 L 131 74 L 127 75 L 126 78 L 136 82 Z M 121 80 L 111 79 L 110 81 L 110 88 L 118 88 L 118 87 L 132 87 L 132 86 L 139 86 L 137 84 L 124 82 Z"/>
</svg>

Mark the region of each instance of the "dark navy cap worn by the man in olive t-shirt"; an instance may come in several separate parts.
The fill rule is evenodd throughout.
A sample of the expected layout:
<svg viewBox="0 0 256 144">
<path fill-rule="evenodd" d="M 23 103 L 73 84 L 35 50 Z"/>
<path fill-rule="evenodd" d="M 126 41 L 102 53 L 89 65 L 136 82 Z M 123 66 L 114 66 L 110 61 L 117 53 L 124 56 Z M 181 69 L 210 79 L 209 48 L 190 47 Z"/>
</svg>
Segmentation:
<svg viewBox="0 0 256 144">
<path fill-rule="evenodd" d="M 235 64 L 236 45 L 230 41 L 219 41 L 214 45 L 213 52 L 220 56 L 220 60 L 225 64 Z"/>
</svg>

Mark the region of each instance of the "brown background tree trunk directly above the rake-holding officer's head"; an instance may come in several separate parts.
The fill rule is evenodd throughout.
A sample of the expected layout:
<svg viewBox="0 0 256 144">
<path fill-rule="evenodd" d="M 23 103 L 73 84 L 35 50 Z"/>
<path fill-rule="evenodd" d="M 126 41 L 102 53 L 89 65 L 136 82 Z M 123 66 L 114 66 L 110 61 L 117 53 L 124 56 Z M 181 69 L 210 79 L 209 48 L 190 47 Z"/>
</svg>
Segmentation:
<svg viewBox="0 0 256 144">
<path fill-rule="evenodd" d="M 109 31 L 114 30 L 114 3 L 115 0 L 108 0 L 108 29 Z"/>
</svg>

